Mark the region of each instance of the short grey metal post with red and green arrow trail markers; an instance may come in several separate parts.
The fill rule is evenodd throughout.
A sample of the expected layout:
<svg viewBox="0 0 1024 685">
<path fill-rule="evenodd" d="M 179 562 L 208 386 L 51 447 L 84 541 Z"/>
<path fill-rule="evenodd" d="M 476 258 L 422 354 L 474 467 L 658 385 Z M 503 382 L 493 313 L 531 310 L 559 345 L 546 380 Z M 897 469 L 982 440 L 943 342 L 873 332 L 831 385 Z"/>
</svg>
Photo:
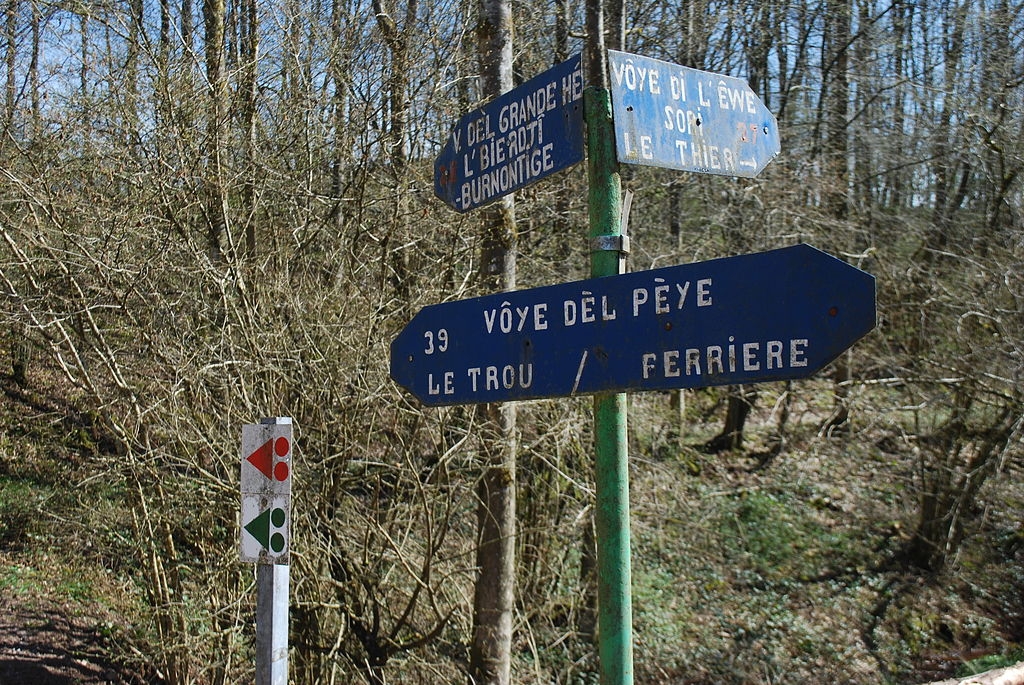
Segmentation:
<svg viewBox="0 0 1024 685">
<path fill-rule="evenodd" d="M 288 683 L 292 420 L 242 427 L 243 561 L 256 564 L 256 685 Z"/>
</svg>

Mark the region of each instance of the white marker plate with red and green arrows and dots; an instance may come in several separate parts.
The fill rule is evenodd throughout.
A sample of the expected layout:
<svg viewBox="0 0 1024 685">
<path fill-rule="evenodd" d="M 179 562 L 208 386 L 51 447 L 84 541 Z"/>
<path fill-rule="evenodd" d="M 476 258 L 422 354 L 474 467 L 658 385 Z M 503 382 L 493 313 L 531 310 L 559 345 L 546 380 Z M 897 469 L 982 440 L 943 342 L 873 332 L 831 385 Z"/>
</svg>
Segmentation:
<svg viewBox="0 0 1024 685">
<path fill-rule="evenodd" d="M 242 427 L 242 561 L 289 561 L 293 446 L 290 418 Z"/>
</svg>

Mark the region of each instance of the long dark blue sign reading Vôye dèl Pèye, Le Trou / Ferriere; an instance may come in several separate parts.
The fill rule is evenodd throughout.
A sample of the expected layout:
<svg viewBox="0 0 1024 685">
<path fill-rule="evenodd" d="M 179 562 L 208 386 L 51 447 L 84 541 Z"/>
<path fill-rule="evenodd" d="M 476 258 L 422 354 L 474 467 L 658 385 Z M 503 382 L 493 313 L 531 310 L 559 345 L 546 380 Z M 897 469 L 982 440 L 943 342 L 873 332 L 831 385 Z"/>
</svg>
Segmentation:
<svg viewBox="0 0 1024 685">
<path fill-rule="evenodd" d="M 391 378 L 426 404 L 808 377 L 874 328 L 874 277 L 807 245 L 425 307 Z"/>
</svg>

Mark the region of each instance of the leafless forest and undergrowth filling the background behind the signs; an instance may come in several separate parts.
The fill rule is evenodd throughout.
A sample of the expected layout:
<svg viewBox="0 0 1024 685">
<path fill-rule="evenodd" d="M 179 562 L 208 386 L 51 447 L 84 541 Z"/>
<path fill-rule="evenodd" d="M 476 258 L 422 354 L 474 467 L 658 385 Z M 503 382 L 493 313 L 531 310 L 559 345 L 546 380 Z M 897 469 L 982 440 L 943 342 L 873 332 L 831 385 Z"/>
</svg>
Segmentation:
<svg viewBox="0 0 1024 685">
<path fill-rule="evenodd" d="M 512 77 L 581 51 L 514 2 Z M 241 425 L 295 421 L 297 683 L 466 679 L 486 417 L 388 344 L 478 294 L 432 197 L 483 100 L 462 0 L 7 0 L 0 587 L 102 613 L 151 682 L 251 678 Z M 622 47 L 745 78 L 757 179 L 624 167 L 634 270 L 810 243 L 879 326 L 808 381 L 630 397 L 637 679 L 916 682 L 1021 656 L 1024 12 L 628 3 Z M 587 180 L 517 194 L 517 287 L 585 277 Z M 516 682 L 596 681 L 591 402 L 517 406 Z"/>
</svg>

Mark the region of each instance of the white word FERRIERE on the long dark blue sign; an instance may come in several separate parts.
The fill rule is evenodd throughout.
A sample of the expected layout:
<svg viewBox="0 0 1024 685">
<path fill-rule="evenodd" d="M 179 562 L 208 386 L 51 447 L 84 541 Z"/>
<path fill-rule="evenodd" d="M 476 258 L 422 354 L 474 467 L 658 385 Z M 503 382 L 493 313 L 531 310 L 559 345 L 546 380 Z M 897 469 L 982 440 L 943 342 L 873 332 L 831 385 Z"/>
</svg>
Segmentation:
<svg viewBox="0 0 1024 685">
<path fill-rule="evenodd" d="M 729 336 L 725 345 L 643 352 L 640 369 L 644 380 L 799 369 L 807 366 L 808 345 L 806 338 L 737 343 Z"/>
</svg>

